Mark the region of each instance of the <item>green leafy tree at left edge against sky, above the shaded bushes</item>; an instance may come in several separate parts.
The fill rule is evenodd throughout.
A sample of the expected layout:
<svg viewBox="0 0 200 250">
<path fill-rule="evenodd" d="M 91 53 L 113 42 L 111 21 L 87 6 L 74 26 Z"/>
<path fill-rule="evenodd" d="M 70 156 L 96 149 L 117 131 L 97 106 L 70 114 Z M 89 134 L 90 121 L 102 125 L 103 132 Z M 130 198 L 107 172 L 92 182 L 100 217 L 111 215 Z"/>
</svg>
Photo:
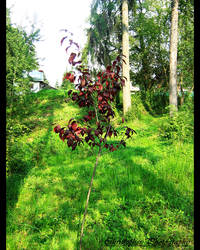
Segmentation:
<svg viewBox="0 0 200 250">
<path fill-rule="evenodd" d="M 34 42 L 39 39 L 39 30 L 30 34 L 11 23 L 6 10 L 6 95 L 7 105 L 30 91 L 30 78 L 26 73 L 38 67 Z"/>
</svg>

